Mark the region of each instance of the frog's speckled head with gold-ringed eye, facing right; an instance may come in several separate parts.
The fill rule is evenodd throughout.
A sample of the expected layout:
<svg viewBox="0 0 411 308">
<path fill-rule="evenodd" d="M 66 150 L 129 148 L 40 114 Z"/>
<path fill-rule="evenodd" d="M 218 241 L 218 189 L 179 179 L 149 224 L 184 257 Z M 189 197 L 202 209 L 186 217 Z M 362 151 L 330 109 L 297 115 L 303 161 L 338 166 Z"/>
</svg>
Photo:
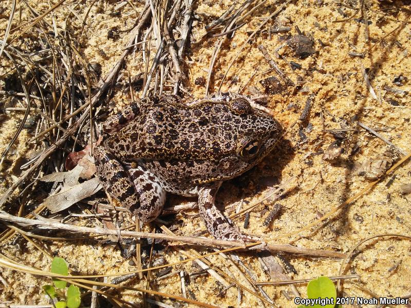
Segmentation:
<svg viewBox="0 0 411 308">
<path fill-rule="evenodd" d="M 283 130 L 268 109 L 244 95 L 218 93 L 213 97 L 229 108 L 221 117 L 222 130 L 218 133 L 225 149 L 222 155 L 215 157 L 216 172 L 213 172 L 215 179 L 226 180 L 242 174 L 267 156 Z"/>
</svg>

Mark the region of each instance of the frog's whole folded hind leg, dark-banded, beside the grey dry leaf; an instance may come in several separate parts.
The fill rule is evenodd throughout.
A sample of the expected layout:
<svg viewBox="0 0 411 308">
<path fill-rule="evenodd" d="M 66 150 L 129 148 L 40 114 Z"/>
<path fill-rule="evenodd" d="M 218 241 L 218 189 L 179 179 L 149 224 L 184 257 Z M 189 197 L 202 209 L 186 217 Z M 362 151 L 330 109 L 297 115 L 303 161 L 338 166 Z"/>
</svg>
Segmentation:
<svg viewBox="0 0 411 308">
<path fill-rule="evenodd" d="M 104 189 L 132 210 L 143 223 L 157 218 L 165 201 L 165 191 L 149 172 L 141 167 L 126 170 L 105 147 L 94 151 L 97 175 Z"/>
</svg>

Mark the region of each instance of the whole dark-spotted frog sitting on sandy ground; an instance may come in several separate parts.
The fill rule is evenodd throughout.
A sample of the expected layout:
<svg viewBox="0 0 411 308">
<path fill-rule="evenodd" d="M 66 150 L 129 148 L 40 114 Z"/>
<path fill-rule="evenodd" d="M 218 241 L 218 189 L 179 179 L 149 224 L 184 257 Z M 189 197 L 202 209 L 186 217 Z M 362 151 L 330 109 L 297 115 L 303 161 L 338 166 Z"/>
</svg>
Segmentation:
<svg viewBox="0 0 411 308">
<path fill-rule="evenodd" d="M 215 205 L 221 183 L 258 164 L 282 125 L 246 95 L 221 92 L 183 103 L 177 95 L 138 99 L 102 124 L 97 176 L 141 223 L 155 220 L 166 194 L 197 197 L 216 239 L 253 241 Z M 261 107 L 261 106 L 260 106 Z"/>
</svg>

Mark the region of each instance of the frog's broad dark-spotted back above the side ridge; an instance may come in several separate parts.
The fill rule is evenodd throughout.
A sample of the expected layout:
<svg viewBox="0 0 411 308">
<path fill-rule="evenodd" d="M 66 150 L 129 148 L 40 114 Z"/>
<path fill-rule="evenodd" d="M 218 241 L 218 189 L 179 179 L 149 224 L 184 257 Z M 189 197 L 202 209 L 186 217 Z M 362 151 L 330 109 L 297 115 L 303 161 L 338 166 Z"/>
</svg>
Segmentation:
<svg viewBox="0 0 411 308">
<path fill-rule="evenodd" d="M 223 103 L 188 107 L 161 101 L 147 107 L 106 144 L 126 161 L 218 159 L 235 151 L 239 133 L 253 133 L 258 117 L 248 117 L 245 121 Z"/>
</svg>

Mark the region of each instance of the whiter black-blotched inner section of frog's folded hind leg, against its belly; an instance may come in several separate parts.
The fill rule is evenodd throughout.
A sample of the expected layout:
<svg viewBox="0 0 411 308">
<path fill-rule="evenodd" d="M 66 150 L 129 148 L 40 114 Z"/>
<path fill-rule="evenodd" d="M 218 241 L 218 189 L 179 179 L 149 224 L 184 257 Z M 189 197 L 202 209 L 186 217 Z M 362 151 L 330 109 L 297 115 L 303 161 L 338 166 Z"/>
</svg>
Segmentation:
<svg viewBox="0 0 411 308">
<path fill-rule="evenodd" d="M 155 220 L 163 209 L 165 190 L 156 176 L 142 166 L 129 168 L 128 172 L 140 198 L 140 207 L 134 211 L 134 215 L 144 223 Z"/>
</svg>

